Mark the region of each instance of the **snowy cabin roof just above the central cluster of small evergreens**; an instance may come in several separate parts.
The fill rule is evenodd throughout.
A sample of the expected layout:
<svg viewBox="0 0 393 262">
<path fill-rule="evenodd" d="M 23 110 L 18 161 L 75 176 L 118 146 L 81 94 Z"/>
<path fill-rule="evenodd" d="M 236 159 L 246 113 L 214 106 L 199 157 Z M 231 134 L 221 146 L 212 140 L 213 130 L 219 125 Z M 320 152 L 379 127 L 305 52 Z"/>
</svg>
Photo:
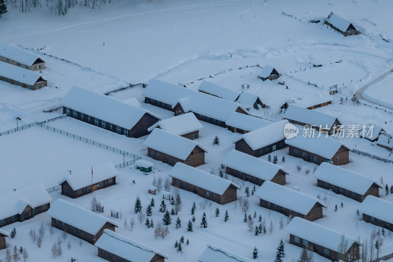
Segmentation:
<svg viewBox="0 0 393 262">
<path fill-rule="evenodd" d="M 180 162 L 177 162 L 169 171 L 169 176 L 181 179 L 187 183 L 196 185 L 219 195 L 223 195 L 230 185 L 240 189 L 240 186 L 227 179 L 221 178 L 217 175 L 212 175 Z"/>
</svg>

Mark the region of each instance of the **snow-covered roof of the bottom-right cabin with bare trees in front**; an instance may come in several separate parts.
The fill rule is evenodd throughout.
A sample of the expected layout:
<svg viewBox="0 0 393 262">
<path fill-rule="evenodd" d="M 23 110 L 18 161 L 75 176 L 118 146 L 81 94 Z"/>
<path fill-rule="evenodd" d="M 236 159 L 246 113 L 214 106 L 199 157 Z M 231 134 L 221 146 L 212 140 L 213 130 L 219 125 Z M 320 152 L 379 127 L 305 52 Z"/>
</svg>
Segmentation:
<svg viewBox="0 0 393 262">
<path fill-rule="evenodd" d="M 294 217 L 286 227 L 285 231 L 336 252 L 339 252 L 338 245 L 341 242 L 341 237 L 343 235 L 340 232 L 325 228 L 324 226 L 300 217 Z M 348 240 L 347 250 L 345 250 L 345 253 L 355 242 L 359 245 L 363 245 L 352 236 L 344 235 L 344 239 Z"/>
</svg>

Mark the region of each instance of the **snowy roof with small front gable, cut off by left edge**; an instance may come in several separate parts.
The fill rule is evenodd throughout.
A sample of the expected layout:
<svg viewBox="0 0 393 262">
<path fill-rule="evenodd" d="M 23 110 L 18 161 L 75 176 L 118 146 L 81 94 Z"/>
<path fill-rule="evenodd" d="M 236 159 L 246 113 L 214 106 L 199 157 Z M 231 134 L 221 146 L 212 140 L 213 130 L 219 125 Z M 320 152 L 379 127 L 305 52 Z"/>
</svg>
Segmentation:
<svg viewBox="0 0 393 262">
<path fill-rule="evenodd" d="M 52 198 L 42 184 L 17 189 L 15 192 L 0 196 L 0 220 L 22 214 L 28 205 L 35 208 L 50 202 L 52 202 Z"/>
</svg>

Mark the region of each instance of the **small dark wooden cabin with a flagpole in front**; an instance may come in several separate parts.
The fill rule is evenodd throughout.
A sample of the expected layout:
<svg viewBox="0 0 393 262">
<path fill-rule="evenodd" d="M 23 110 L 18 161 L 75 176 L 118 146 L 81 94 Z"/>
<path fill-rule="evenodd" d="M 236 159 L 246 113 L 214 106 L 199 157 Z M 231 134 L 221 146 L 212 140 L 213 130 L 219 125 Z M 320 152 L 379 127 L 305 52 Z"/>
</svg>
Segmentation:
<svg viewBox="0 0 393 262">
<path fill-rule="evenodd" d="M 59 182 L 61 195 L 79 198 L 91 194 L 91 188 L 94 192 L 115 185 L 117 174 L 118 172 L 112 163 L 108 162 L 76 174 L 67 175 Z"/>
</svg>

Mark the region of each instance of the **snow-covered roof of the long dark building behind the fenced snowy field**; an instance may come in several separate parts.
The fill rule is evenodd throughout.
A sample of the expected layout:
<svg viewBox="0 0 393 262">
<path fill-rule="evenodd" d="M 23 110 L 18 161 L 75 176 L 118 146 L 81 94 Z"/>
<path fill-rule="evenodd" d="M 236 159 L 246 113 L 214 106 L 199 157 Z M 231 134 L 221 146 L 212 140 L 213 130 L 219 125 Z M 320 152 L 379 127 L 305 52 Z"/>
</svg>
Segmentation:
<svg viewBox="0 0 393 262">
<path fill-rule="evenodd" d="M 82 87 L 72 87 L 60 105 L 127 129 L 133 128 L 145 114 L 161 119 L 146 109 Z"/>
</svg>

